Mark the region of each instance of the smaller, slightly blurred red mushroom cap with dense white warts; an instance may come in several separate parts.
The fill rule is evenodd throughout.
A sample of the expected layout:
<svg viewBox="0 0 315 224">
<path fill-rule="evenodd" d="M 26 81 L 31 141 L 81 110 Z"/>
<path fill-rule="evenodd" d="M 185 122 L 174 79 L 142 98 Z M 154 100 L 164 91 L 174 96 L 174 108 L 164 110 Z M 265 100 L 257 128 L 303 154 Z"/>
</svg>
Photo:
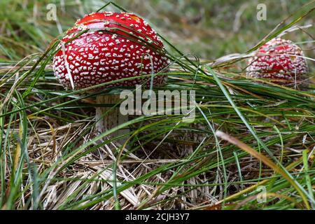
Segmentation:
<svg viewBox="0 0 315 224">
<path fill-rule="evenodd" d="M 272 39 L 258 48 L 248 64 L 246 73 L 250 77 L 283 85 L 307 84 L 306 59 L 302 49 L 292 41 Z"/>
</svg>

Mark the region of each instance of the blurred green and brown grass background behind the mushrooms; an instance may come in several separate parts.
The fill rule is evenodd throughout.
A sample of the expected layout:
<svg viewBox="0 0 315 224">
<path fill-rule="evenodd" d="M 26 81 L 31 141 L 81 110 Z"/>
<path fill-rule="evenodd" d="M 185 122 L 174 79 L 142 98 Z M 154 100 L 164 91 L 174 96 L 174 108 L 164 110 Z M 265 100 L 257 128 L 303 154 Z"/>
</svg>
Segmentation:
<svg viewBox="0 0 315 224">
<path fill-rule="evenodd" d="M 101 0 L 6 0 L 0 1 L 0 59 L 20 59 L 45 50 L 59 32 L 69 29 L 84 14 L 104 6 Z M 160 34 L 185 53 L 216 59 L 246 52 L 276 25 L 309 0 L 118 0 L 125 9 L 146 18 Z M 55 3 L 58 21 L 48 21 L 48 4 Z M 267 20 L 258 21 L 258 3 L 267 6 Z M 117 10 L 108 6 L 106 10 Z M 280 11 L 279 11 L 280 10 Z M 314 16 L 300 25 L 314 25 Z M 59 26 L 59 29 L 58 29 Z M 314 40 L 314 28 L 286 35 L 293 42 Z M 304 44 L 308 57 L 315 56 L 312 43 Z"/>
</svg>

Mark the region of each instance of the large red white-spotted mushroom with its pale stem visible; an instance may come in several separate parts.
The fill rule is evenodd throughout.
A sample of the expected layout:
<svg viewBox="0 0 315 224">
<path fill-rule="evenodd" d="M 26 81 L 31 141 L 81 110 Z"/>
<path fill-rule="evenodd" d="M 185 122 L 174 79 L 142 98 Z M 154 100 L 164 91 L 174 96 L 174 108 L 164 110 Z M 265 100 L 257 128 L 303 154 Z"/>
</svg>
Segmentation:
<svg viewBox="0 0 315 224">
<path fill-rule="evenodd" d="M 67 41 L 69 43 L 65 44 Z M 160 37 L 146 21 L 132 13 L 86 15 L 66 32 L 61 46 L 53 58 L 52 68 L 66 89 L 78 90 L 152 71 L 158 73 L 169 65 Z M 149 77 L 124 80 L 106 87 L 132 87 L 146 80 Z M 162 85 L 166 80 L 167 76 L 155 76 L 153 85 Z M 118 95 L 99 95 L 97 104 L 116 104 L 118 99 Z M 102 118 L 106 111 L 102 107 L 96 109 L 99 132 L 127 121 L 127 116 L 122 116 L 118 108 Z"/>
</svg>

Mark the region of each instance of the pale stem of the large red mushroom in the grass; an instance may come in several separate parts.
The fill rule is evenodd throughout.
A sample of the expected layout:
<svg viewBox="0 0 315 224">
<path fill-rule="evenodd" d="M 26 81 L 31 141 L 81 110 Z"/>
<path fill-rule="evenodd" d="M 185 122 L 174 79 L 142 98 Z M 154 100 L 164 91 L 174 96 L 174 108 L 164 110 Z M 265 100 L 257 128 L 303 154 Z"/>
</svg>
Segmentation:
<svg viewBox="0 0 315 224">
<path fill-rule="evenodd" d="M 97 104 L 117 104 L 120 98 L 119 95 L 100 95 L 97 96 Z M 105 115 L 106 113 L 106 115 Z M 128 116 L 123 116 L 119 111 L 119 106 L 115 108 L 98 106 L 96 108 L 96 128 L 99 134 L 111 130 L 113 127 L 117 127 L 128 121 Z M 129 128 L 123 130 L 118 130 L 113 132 L 109 137 L 118 137 L 122 134 L 130 132 Z M 127 137 L 119 139 L 117 142 L 120 144 L 125 144 Z"/>
</svg>

